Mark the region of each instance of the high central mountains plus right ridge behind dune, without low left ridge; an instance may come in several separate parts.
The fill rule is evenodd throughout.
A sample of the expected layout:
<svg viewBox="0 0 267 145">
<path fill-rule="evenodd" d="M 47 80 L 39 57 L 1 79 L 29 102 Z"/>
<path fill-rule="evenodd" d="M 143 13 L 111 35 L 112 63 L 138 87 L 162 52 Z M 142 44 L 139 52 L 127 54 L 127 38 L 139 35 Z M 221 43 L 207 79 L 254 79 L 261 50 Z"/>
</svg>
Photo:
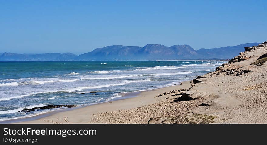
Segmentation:
<svg viewBox="0 0 267 145">
<path fill-rule="evenodd" d="M 212 49 L 194 50 L 189 45 L 173 45 L 167 47 L 161 44 L 147 44 L 144 47 L 112 45 L 97 48 L 91 52 L 81 54 L 77 60 L 175 60 L 175 59 L 230 59 L 244 47 L 251 47 L 259 43 L 246 43 L 237 46 L 227 46 Z"/>
</svg>

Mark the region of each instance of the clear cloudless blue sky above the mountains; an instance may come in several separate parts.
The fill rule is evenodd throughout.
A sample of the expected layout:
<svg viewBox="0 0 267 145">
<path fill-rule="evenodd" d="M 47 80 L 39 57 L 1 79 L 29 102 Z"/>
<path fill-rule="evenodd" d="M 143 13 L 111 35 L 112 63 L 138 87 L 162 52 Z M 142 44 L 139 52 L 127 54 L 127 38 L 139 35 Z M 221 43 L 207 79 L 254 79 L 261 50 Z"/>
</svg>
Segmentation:
<svg viewBox="0 0 267 145">
<path fill-rule="evenodd" d="M 0 0 L 0 53 L 82 54 L 118 44 L 200 49 L 263 42 L 266 5 L 266 0 Z"/>
</svg>

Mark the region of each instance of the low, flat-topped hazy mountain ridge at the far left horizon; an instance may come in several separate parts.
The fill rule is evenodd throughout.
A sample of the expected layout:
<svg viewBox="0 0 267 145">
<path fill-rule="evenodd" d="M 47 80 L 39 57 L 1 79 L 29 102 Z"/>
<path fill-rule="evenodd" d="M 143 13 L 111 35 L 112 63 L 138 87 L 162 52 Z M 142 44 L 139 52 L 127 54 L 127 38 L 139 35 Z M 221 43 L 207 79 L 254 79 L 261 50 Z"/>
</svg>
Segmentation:
<svg viewBox="0 0 267 145">
<path fill-rule="evenodd" d="M 72 53 L 44 53 L 44 54 L 17 54 L 3 53 L 0 61 L 54 61 L 54 60 L 74 60 L 77 55 Z"/>
</svg>

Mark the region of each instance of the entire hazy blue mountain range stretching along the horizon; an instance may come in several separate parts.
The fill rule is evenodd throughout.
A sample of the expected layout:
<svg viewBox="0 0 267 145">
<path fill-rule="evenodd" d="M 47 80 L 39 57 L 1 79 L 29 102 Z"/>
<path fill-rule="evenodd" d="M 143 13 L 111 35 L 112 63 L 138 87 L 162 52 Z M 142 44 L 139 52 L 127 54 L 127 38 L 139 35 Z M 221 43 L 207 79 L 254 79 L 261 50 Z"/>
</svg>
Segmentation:
<svg viewBox="0 0 267 145">
<path fill-rule="evenodd" d="M 244 51 L 244 47 L 260 43 L 246 43 L 237 46 L 194 50 L 189 45 L 147 44 L 144 47 L 111 45 L 96 48 L 77 56 L 73 53 L 45 54 L 0 54 L 0 61 L 107 61 L 107 60 L 185 60 L 185 59 L 230 59 Z"/>
</svg>

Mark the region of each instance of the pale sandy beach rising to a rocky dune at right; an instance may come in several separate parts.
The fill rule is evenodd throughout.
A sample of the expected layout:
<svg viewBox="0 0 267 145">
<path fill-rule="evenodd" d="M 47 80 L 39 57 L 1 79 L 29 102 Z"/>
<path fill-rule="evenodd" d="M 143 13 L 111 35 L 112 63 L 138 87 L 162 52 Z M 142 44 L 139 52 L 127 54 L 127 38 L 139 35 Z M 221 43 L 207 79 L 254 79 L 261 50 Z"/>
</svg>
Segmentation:
<svg viewBox="0 0 267 145">
<path fill-rule="evenodd" d="M 191 82 L 19 123 L 267 123 L 267 42 L 245 49 Z"/>
</svg>

